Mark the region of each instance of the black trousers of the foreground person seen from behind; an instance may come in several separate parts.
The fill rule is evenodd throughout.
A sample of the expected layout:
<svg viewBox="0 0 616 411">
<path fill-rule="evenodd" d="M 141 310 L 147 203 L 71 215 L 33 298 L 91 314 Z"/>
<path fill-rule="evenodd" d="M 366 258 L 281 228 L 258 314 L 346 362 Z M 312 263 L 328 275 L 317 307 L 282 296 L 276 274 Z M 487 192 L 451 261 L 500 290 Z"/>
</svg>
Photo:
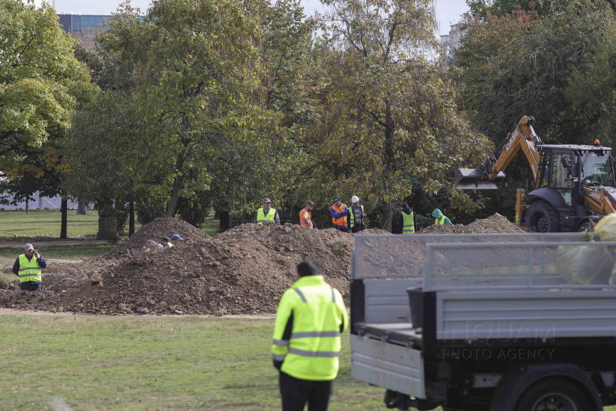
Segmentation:
<svg viewBox="0 0 616 411">
<path fill-rule="evenodd" d="M 309 381 L 280 372 L 280 395 L 283 411 L 327 411 L 333 381 Z"/>
</svg>

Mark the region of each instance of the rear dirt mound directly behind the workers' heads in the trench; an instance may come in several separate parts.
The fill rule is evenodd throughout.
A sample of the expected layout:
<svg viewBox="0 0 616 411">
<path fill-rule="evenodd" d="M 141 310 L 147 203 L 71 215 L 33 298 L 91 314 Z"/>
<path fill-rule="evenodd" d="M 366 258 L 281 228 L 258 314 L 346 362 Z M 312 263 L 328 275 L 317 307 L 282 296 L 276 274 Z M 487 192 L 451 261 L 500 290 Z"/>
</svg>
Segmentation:
<svg viewBox="0 0 616 411">
<path fill-rule="evenodd" d="M 148 240 L 159 242 L 163 237 L 171 238 L 173 234 L 179 234 L 184 240 L 196 240 L 201 242 L 209 238 L 194 225 L 190 225 L 178 219 L 154 219 L 139 229 L 138 232 L 130 236 L 125 242 L 105 254 L 105 258 L 126 257 L 127 251 L 141 249 Z"/>
</svg>

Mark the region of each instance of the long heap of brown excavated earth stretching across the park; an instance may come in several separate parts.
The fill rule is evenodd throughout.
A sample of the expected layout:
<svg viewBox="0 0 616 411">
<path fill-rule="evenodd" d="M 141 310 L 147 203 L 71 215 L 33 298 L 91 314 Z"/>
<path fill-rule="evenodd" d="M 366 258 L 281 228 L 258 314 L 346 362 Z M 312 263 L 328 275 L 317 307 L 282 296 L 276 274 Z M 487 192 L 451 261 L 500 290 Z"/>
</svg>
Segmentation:
<svg viewBox="0 0 616 411">
<path fill-rule="evenodd" d="M 473 232 L 490 232 L 490 224 L 502 230 L 498 232 L 519 230 L 498 214 L 467 226 L 438 229 L 473 226 Z M 420 233 L 427 234 L 426 230 L 433 227 Z M 172 234 L 180 234 L 183 242 L 170 249 L 147 243 Z M 361 234 L 389 233 L 368 229 Z M 40 292 L 22 292 L 17 280 L 0 280 L 0 306 L 112 315 L 274 313 L 283 292 L 296 281 L 296 264 L 304 258 L 320 265 L 326 281 L 340 290 L 348 303 L 354 237 L 335 229 L 291 224 L 244 224 L 211 237 L 185 221 L 156 219 L 101 258 L 49 264 L 43 271 Z M 385 273 L 388 262 L 381 260 L 391 253 L 383 253 L 378 240 L 362 240 L 358 263 L 375 272 L 381 267 Z M 376 245 L 374 253 L 370 252 L 371 243 Z M 408 240 L 400 243 L 396 262 L 406 273 L 408 266 L 403 267 L 407 262 L 412 266 L 423 264 L 418 257 L 413 258 L 420 249 L 409 253 L 408 245 Z M 385 242 L 383 247 L 392 245 Z M 10 266 L 1 269 L 8 272 Z"/>
</svg>

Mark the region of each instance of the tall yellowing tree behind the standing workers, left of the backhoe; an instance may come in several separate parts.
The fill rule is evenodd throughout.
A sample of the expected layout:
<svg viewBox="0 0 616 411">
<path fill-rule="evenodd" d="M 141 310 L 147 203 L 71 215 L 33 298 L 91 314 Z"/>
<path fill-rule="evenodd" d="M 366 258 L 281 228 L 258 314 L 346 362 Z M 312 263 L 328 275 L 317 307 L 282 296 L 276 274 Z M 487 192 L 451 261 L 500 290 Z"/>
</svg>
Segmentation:
<svg viewBox="0 0 616 411">
<path fill-rule="evenodd" d="M 429 195 L 446 190 L 454 207 L 474 204 L 452 190 L 453 169 L 477 161 L 487 142 L 457 112 L 454 84 L 424 53 L 437 47 L 428 0 L 331 0 L 326 15 L 322 115 L 307 141 L 318 145 L 316 188 L 328 197 L 380 201 L 392 229 L 392 201 L 411 179 Z"/>
</svg>

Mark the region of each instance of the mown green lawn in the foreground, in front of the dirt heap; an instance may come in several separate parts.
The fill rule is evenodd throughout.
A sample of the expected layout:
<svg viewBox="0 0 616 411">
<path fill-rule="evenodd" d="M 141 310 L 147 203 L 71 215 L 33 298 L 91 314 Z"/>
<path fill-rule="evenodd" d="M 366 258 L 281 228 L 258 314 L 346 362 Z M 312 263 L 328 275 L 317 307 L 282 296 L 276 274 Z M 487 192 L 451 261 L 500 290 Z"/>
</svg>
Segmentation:
<svg viewBox="0 0 616 411">
<path fill-rule="evenodd" d="M 273 319 L 0 316 L 0 408 L 279 410 Z M 348 334 L 330 410 L 385 410 L 350 378 Z M 27 382 L 27 383 L 25 383 Z"/>
</svg>

